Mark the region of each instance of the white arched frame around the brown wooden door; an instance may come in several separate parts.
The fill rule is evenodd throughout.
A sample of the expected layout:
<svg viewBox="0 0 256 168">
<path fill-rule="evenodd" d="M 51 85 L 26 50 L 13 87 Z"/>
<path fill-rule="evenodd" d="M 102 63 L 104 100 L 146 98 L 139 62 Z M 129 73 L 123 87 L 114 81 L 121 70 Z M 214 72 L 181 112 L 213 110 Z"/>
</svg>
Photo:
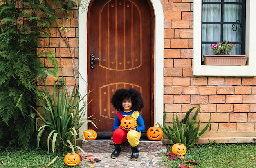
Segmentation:
<svg viewBox="0 0 256 168">
<path fill-rule="evenodd" d="M 82 0 L 89 4 L 91 0 Z M 86 3 L 85 3 L 86 2 Z M 164 114 L 164 12 L 160 0 L 150 0 L 155 13 L 155 57 L 154 57 L 154 123 L 163 124 Z M 88 90 L 87 67 L 87 10 L 79 10 L 79 92 L 85 95 Z M 85 100 L 86 101 L 86 100 Z M 81 102 L 83 103 L 83 102 Z M 87 117 L 87 107 L 83 115 Z M 80 133 L 87 129 L 87 124 L 80 128 Z M 81 135 L 81 134 L 80 134 Z"/>
</svg>

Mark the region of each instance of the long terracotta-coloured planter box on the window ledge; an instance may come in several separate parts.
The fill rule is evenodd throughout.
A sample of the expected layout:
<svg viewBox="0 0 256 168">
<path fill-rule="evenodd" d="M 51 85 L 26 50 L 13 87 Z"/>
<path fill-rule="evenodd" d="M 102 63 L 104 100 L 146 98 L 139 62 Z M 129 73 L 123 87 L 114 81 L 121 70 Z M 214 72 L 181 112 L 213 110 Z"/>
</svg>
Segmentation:
<svg viewBox="0 0 256 168">
<path fill-rule="evenodd" d="M 245 65 L 247 55 L 203 55 L 204 65 Z"/>
</svg>

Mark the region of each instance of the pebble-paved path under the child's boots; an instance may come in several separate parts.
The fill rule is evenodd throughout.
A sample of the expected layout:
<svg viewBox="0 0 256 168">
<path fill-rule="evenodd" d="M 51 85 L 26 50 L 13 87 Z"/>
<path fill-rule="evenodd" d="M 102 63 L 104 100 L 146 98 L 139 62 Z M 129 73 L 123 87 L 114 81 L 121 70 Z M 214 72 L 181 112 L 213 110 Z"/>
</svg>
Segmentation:
<svg viewBox="0 0 256 168">
<path fill-rule="evenodd" d="M 94 159 L 101 160 L 93 163 L 94 168 L 166 168 L 158 164 L 162 158 L 162 151 L 166 151 L 164 146 L 161 151 L 140 152 L 137 161 L 130 160 L 131 152 L 121 152 L 117 159 L 112 159 L 110 157 L 111 153 L 90 153 L 90 155 Z M 80 164 L 81 168 L 88 168 L 92 163 L 87 159 L 81 161 Z"/>
</svg>

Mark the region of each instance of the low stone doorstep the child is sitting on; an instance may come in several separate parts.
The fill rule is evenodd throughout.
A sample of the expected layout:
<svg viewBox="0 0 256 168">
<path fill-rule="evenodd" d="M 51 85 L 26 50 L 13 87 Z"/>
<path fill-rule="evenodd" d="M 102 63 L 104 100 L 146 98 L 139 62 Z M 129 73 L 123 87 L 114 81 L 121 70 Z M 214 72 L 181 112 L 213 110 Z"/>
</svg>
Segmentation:
<svg viewBox="0 0 256 168">
<path fill-rule="evenodd" d="M 110 139 L 96 139 L 82 142 L 85 153 L 111 153 L 114 150 L 114 142 Z M 138 149 L 140 152 L 157 152 L 162 150 L 162 141 L 139 140 Z M 121 144 L 121 152 L 130 152 L 128 142 Z"/>
</svg>

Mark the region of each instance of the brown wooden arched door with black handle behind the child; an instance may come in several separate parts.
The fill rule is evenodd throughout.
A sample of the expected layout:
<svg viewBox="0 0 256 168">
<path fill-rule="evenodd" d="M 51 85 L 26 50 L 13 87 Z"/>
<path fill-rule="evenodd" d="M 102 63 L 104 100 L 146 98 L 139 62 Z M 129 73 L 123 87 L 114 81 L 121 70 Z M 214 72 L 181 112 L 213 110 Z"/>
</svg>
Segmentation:
<svg viewBox="0 0 256 168">
<path fill-rule="evenodd" d="M 88 90 L 93 91 L 88 116 L 101 120 L 95 120 L 98 133 L 112 133 L 116 111 L 110 99 L 119 88 L 142 93 L 141 115 L 146 129 L 153 125 L 152 11 L 148 0 L 93 0 L 89 5 Z"/>
</svg>

